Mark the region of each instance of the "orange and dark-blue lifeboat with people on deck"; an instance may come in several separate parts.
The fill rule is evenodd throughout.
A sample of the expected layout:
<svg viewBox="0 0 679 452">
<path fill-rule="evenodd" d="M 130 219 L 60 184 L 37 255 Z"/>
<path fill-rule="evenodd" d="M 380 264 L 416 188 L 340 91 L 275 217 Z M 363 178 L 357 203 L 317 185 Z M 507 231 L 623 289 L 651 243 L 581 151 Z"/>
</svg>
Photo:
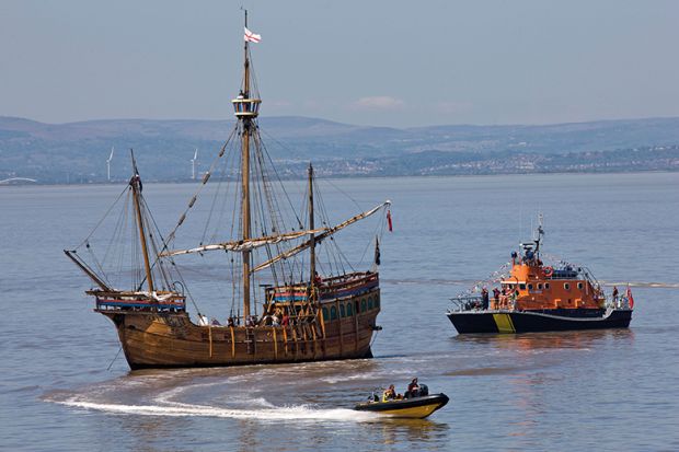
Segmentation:
<svg viewBox="0 0 679 452">
<path fill-rule="evenodd" d="M 447 315 L 460 334 L 530 333 L 571 329 L 626 328 L 634 299 L 628 289 L 610 297 L 586 267 L 563 263 L 559 267 L 541 259 L 544 231 L 538 228 L 532 242 L 511 253 L 509 275 L 499 287 L 482 289 L 481 295 L 452 299 Z"/>
</svg>

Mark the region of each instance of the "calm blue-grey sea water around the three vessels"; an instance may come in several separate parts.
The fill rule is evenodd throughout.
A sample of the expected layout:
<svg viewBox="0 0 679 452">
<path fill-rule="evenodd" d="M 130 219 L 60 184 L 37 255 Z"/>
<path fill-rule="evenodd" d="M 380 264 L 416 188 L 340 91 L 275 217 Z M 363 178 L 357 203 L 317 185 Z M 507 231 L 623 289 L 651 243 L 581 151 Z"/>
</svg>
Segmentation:
<svg viewBox="0 0 679 452">
<path fill-rule="evenodd" d="M 120 357 L 106 370 L 113 325 L 61 253 L 123 186 L 0 188 L 0 449 L 679 450 L 679 173 L 333 184 L 362 208 L 394 202 L 375 359 L 141 372 Z M 161 228 L 194 188 L 146 185 Z M 333 218 L 357 210 L 336 192 L 324 199 Z M 630 329 L 456 334 L 448 299 L 507 262 L 538 211 L 548 253 L 632 282 Z M 349 255 L 365 247 L 356 230 L 343 236 Z M 184 276 L 205 311 L 227 315 L 209 278 Z M 451 398 L 429 419 L 348 409 L 415 375 Z"/>
</svg>

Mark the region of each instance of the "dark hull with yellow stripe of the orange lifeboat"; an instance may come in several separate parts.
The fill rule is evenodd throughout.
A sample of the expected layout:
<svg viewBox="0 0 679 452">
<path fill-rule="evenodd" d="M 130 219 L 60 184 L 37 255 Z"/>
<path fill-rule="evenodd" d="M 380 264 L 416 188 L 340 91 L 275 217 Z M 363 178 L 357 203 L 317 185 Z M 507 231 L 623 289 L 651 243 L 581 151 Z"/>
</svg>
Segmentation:
<svg viewBox="0 0 679 452">
<path fill-rule="evenodd" d="M 562 332 L 626 328 L 632 310 L 451 311 L 448 318 L 459 334 Z"/>
</svg>

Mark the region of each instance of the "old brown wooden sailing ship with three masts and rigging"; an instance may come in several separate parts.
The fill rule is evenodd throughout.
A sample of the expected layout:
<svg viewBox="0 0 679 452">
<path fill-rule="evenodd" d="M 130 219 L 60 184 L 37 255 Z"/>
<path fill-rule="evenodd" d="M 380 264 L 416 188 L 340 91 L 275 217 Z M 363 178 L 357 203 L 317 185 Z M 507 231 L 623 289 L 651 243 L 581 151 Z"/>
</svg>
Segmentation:
<svg viewBox="0 0 679 452">
<path fill-rule="evenodd" d="M 164 240 L 142 196 L 141 179 L 133 155 L 134 175 L 124 194 L 127 194 L 125 204 L 131 207 L 130 229 L 135 232 L 126 252 L 130 255 L 139 252 L 137 255 L 140 254 L 141 258 L 133 257 L 138 269 L 131 271 L 135 276 L 131 289 L 117 289 L 100 260 L 89 260 L 92 254 L 90 239 L 76 250 L 65 251 L 96 285 L 87 293 L 95 298 L 95 311 L 115 324 L 131 369 L 371 357 L 370 346 L 373 332 L 379 329 L 376 318 L 381 305 L 377 271 L 378 239 L 376 264 L 367 271 L 347 271 L 335 266 L 331 275 L 322 277 L 319 271 L 323 268 L 319 267 L 330 267 L 332 270 L 333 266 L 321 265 L 317 253 L 321 244 L 324 248 L 335 246 L 334 234 L 349 224 L 379 211 L 389 215 L 390 202 L 382 202 L 333 227 L 329 225 L 327 219 L 323 219 L 322 225 L 318 227 L 315 183 L 313 169 L 309 165 L 304 195 L 306 224 L 296 217 L 297 228 L 286 230 L 285 221 L 275 211 L 265 219 L 265 207 L 273 209 L 276 196 L 269 177 L 272 172 L 267 172 L 263 164 L 267 160 L 273 161 L 260 136 L 257 116 L 261 100 L 251 71 L 249 43 L 254 39 L 248 38 L 249 33 L 245 12 L 244 76 L 241 91 L 232 101 L 237 123 L 216 163 L 203 176 L 198 189 L 200 192 L 208 183 L 212 170 L 218 166 L 217 162 L 231 154 L 240 174 L 225 172 L 220 185 L 235 187 L 233 198 L 239 215 L 232 216 L 231 231 L 234 231 L 234 236 L 228 241 L 202 242 L 199 246 L 172 250 L 171 244 L 175 242 L 177 230 L 188 212 L 193 211 L 197 195 L 189 200 L 176 228 Z M 381 222 L 384 224 L 384 221 Z M 255 227 L 260 230 L 255 231 Z M 196 321 L 192 320 L 186 303 L 187 300 L 196 300 L 187 290 L 175 262 L 179 255 L 203 256 L 212 251 L 226 253 L 229 265 L 225 267 L 230 266 L 230 273 L 234 275 L 231 278 L 232 309 L 223 325 L 217 321 L 209 322 L 199 310 Z M 302 252 L 309 253 L 308 262 L 299 262 L 303 260 L 300 256 L 307 254 Z M 262 256 L 264 258 L 260 258 Z M 271 270 L 269 277 L 260 277 L 264 269 Z M 228 270 L 225 277 L 227 275 Z M 255 278 L 266 282 L 261 285 L 264 286 L 264 297 L 258 299 L 261 312 L 257 312 L 257 294 L 253 290 Z M 242 312 L 240 306 L 233 309 L 238 300 L 242 302 Z"/>
</svg>

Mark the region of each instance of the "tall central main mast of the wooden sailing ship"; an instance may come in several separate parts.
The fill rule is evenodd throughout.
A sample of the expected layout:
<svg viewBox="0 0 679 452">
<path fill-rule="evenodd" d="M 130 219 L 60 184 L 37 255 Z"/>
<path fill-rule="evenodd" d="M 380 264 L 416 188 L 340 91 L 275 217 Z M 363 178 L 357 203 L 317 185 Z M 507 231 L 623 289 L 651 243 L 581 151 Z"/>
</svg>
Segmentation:
<svg viewBox="0 0 679 452">
<path fill-rule="evenodd" d="M 245 10 L 245 30 L 248 30 L 248 11 Z M 250 215 L 250 137 L 256 128 L 255 119 L 260 112 L 258 98 L 250 97 L 250 57 L 249 42 L 245 38 L 243 46 L 244 54 L 244 73 L 243 90 L 233 103 L 234 115 L 241 123 L 241 218 L 242 218 L 242 240 L 246 241 L 251 237 L 251 215 Z M 243 251 L 243 316 L 248 318 L 250 315 L 250 260 L 251 252 Z"/>
</svg>

